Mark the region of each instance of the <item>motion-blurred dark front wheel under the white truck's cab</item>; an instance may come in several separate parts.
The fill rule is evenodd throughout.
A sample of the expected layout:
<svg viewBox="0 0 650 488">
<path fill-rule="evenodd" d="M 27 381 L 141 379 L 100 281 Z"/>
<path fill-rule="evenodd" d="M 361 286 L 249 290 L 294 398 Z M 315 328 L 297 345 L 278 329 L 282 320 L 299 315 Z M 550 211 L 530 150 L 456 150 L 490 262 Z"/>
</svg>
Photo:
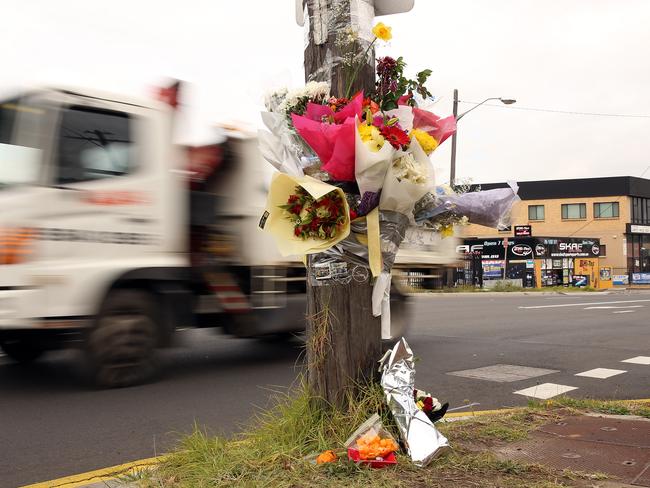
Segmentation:
<svg viewBox="0 0 650 488">
<path fill-rule="evenodd" d="M 91 374 L 101 387 L 142 383 L 156 370 L 156 302 L 140 290 L 116 290 L 106 298 L 86 342 Z"/>
</svg>

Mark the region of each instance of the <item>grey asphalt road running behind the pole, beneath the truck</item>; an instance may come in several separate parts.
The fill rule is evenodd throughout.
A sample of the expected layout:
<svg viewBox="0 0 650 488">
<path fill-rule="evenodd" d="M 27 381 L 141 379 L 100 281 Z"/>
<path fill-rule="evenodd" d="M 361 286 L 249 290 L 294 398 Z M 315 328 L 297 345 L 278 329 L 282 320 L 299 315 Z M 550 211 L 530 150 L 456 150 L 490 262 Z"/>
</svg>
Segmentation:
<svg viewBox="0 0 650 488">
<path fill-rule="evenodd" d="M 418 296 L 412 310 L 407 338 L 420 358 L 417 385 L 452 407 L 523 405 L 526 396 L 514 392 L 541 395 L 544 383 L 554 385 L 549 394 L 562 385 L 576 397 L 650 397 L 650 364 L 621 362 L 650 359 L 650 293 Z M 157 382 L 119 390 L 88 388 L 72 352 L 29 367 L 0 357 L 0 486 L 160 454 L 195 423 L 231 434 L 300 371 L 297 341 L 233 339 L 205 329 L 182 331 L 179 339 Z M 495 365 L 519 376 L 449 374 Z M 524 379 L 532 370 L 514 366 L 553 372 Z M 595 368 L 625 373 L 575 376 Z"/>
</svg>

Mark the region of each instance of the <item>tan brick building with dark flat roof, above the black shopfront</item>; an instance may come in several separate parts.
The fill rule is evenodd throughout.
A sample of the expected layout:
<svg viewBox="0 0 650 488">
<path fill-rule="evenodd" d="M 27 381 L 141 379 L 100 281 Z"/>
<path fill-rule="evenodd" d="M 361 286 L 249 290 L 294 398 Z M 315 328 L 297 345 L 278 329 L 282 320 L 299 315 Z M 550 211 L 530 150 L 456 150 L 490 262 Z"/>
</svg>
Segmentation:
<svg viewBox="0 0 650 488">
<path fill-rule="evenodd" d="M 481 185 L 481 189 L 505 187 Z M 600 267 L 611 268 L 615 284 L 650 284 L 650 180 L 631 176 L 522 181 L 512 210 L 511 230 L 480 225 L 462 228 L 465 239 L 514 237 L 515 226 L 533 236 L 597 238 Z M 618 283 L 616 283 L 618 281 Z"/>
</svg>

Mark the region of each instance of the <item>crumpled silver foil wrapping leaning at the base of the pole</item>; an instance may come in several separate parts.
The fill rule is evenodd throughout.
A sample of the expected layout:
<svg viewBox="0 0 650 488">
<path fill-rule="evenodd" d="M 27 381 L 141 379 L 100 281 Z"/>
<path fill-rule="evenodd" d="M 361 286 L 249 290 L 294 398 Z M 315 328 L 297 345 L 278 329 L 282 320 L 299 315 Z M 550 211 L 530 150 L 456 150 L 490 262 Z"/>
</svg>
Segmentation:
<svg viewBox="0 0 650 488">
<path fill-rule="evenodd" d="M 381 386 L 411 461 L 426 466 L 449 448 L 449 441 L 415 404 L 415 361 L 402 337 L 381 360 Z"/>
</svg>

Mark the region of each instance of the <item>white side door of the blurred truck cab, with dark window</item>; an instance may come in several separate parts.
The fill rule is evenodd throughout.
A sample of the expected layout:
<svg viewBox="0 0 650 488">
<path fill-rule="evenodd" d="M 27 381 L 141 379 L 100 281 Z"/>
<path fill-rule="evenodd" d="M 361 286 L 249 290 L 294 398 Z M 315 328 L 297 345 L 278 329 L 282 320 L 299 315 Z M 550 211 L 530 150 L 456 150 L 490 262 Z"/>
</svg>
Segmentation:
<svg viewBox="0 0 650 488">
<path fill-rule="evenodd" d="M 171 245 L 160 151 L 169 141 L 143 107 L 65 94 L 58 113 L 36 219 L 39 276 L 48 316 L 90 315 L 114 279 L 159 266 L 152 256 Z"/>
</svg>

